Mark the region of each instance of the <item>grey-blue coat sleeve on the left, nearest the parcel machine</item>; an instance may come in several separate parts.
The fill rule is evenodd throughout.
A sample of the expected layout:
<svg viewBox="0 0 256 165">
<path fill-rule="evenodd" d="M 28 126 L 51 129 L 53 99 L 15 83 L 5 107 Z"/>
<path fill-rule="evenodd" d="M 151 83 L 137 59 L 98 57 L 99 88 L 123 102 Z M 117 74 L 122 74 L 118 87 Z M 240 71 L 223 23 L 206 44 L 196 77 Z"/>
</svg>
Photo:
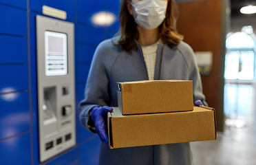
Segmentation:
<svg viewBox="0 0 256 165">
<path fill-rule="evenodd" d="M 100 43 L 96 48 L 89 69 L 85 87 L 85 98 L 79 103 L 79 119 L 88 131 L 89 110 L 93 107 L 109 106 L 109 79 L 104 65 L 105 45 Z"/>
</svg>

